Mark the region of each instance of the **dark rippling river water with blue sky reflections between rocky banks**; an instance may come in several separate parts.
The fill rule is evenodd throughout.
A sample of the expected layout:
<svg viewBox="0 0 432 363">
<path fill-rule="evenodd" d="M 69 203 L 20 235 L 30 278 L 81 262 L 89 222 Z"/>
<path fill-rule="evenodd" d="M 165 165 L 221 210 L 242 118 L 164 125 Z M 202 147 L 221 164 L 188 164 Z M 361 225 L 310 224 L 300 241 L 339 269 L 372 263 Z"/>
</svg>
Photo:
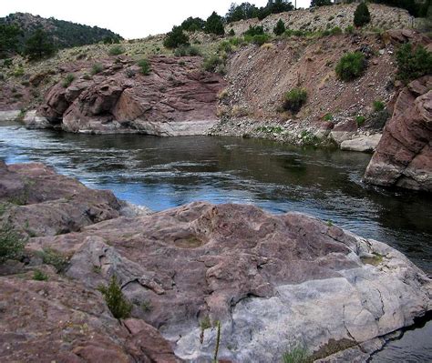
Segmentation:
<svg viewBox="0 0 432 363">
<path fill-rule="evenodd" d="M 207 200 L 308 213 L 386 242 L 432 274 L 432 197 L 365 186 L 370 155 L 231 137 L 90 136 L 3 125 L 0 158 L 46 163 L 158 211 Z M 429 321 L 373 361 L 432 361 L 430 337 Z"/>
</svg>

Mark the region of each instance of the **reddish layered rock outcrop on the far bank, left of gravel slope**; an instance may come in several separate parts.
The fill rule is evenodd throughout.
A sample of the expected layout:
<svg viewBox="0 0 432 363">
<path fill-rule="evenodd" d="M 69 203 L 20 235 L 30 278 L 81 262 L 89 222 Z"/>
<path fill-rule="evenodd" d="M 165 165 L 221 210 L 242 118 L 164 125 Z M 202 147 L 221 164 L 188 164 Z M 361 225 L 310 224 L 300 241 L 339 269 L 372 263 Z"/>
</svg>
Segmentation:
<svg viewBox="0 0 432 363">
<path fill-rule="evenodd" d="M 106 60 L 90 80 L 85 66 L 72 67 L 77 81 L 51 88 L 36 116 L 70 132 L 205 135 L 218 120 L 217 95 L 224 82 L 202 71 L 201 59 L 154 56 L 148 76 L 126 57 Z"/>
</svg>

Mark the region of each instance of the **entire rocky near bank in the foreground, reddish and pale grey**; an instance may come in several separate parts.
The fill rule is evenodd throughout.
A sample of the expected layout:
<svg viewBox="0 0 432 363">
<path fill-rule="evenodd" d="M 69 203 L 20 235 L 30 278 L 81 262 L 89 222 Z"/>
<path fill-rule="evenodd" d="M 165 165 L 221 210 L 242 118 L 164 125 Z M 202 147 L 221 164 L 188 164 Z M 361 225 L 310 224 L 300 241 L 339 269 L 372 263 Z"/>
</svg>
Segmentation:
<svg viewBox="0 0 432 363">
<path fill-rule="evenodd" d="M 112 195 L 40 164 L 3 169 L 5 196 L 22 188 L 24 176 L 34 187 L 23 208 L 49 205 L 39 182 L 55 190 L 52 181 L 61 179 L 70 186 L 64 210 L 82 194 L 90 202 L 101 197 L 98 207 L 118 211 Z M 2 218 L 14 215 L 11 204 Z M 336 353 L 339 359 L 365 359 L 382 346 L 381 337 L 432 308 L 431 281 L 406 257 L 313 217 L 202 202 L 116 216 L 57 236 L 27 231 L 26 257 L 0 269 L 7 274 L 0 277 L 7 292 L 0 306 L 0 357 L 169 362 L 177 359 L 172 347 L 188 361 L 212 361 L 220 321 L 220 359 L 276 362 L 297 344 L 314 351 L 314 358 L 344 350 Z M 51 223 L 42 219 L 39 229 Z M 36 251 L 44 248 L 68 257 L 66 277 L 43 265 Z M 48 281 L 31 280 L 35 267 Z M 133 303 L 135 320 L 116 321 L 103 304 L 96 287 L 112 276 Z"/>
</svg>

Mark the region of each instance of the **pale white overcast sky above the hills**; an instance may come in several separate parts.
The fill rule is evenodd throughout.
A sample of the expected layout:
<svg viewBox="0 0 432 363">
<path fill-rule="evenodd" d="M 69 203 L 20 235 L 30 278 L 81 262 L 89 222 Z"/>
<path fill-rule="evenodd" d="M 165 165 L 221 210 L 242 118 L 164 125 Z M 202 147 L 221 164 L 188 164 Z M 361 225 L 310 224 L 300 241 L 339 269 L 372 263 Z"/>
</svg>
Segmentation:
<svg viewBox="0 0 432 363">
<path fill-rule="evenodd" d="M 243 1 L 237 1 L 237 4 Z M 189 16 L 225 15 L 232 0 L 0 0 L 0 17 L 31 13 L 112 30 L 127 39 L 167 33 Z M 235 2 L 235 1 L 234 1 Z M 267 0 L 249 0 L 258 7 Z M 308 7 L 310 0 L 297 0 Z"/>
</svg>

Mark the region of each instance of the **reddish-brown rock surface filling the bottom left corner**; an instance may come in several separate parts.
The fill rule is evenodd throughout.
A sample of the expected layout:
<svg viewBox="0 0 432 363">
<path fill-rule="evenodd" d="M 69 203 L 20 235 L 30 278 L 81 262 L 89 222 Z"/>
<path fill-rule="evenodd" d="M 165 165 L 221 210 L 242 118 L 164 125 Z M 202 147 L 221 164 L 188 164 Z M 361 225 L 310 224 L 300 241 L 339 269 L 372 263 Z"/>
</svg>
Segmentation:
<svg viewBox="0 0 432 363">
<path fill-rule="evenodd" d="M 2 362 L 176 363 L 170 344 L 144 321 L 113 318 L 98 291 L 41 267 L 0 277 Z"/>
</svg>

